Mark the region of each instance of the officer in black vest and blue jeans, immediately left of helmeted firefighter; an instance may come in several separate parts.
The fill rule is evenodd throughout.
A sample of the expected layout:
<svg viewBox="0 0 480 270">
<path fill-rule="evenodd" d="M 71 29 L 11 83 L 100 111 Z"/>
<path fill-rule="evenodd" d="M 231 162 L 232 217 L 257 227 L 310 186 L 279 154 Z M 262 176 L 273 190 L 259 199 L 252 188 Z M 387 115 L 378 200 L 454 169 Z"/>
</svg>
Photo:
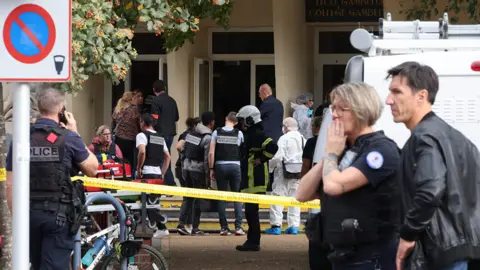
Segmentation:
<svg viewBox="0 0 480 270">
<path fill-rule="evenodd" d="M 240 192 L 242 172 L 240 170 L 240 147 L 243 143 L 243 133 L 235 128 L 237 113 L 230 112 L 225 118 L 225 126 L 217 128 L 212 133 L 208 162 L 210 165 L 210 179 L 216 181 L 218 190 Z M 218 201 L 218 218 L 220 221 L 220 235 L 230 235 L 225 201 Z M 242 229 L 242 203 L 234 202 L 235 235 L 245 235 Z"/>
</svg>

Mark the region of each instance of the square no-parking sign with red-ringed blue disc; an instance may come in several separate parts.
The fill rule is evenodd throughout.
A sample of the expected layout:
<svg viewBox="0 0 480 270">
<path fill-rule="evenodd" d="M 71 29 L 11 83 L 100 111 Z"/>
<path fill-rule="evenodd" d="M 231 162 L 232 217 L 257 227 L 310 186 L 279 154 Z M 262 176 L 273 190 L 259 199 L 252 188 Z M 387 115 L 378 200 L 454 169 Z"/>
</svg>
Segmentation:
<svg viewBox="0 0 480 270">
<path fill-rule="evenodd" d="M 71 1 L 0 1 L 0 81 L 71 76 Z"/>
</svg>

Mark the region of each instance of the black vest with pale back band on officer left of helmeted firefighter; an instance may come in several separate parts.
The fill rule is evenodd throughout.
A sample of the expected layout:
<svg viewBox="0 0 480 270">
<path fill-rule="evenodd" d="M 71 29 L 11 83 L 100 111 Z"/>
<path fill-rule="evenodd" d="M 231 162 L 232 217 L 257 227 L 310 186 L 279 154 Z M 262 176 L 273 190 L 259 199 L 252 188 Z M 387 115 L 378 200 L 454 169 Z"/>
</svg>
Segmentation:
<svg viewBox="0 0 480 270">
<path fill-rule="evenodd" d="M 231 131 L 217 128 L 215 161 L 240 161 L 238 133 L 238 129 L 236 128 Z"/>
</svg>

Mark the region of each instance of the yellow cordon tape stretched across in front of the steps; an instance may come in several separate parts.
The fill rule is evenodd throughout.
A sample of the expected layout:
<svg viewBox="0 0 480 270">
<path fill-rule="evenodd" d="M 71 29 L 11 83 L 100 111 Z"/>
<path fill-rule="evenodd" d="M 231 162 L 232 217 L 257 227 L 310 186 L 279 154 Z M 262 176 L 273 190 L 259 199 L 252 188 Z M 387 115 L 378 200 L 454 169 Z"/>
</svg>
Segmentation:
<svg viewBox="0 0 480 270">
<path fill-rule="evenodd" d="M 134 182 L 128 182 L 128 181 L 107 180 L 107 179 L 81 177 L 81 176 L 75 176 L 72 178 L 72 180 L 82 180 L 83 184 L 88 187 L 129 190 L 129 191 L 136 191 L 136 192 L 164 194 L 164 195 L 173 195 L 173 196 L 182 196 L 182 197 L 185 196 L 185 197 L 222 200 L 222 201 L 230 201 L 230 202 L 298 206 L 298 207 L 305 207 L 305 208 L 320 208 L 319 200 L 313 200 L 306 203 L 301 203 L 297 201 L 295 198 L 291 198 L 291 197 L 258 195 L 258 194 L 194 189 L 194 188 L 184 188 L 184 187 L 171 187 L 171 186 L 164 186 L 164 185 L 134 183 Z"/>
</svg>

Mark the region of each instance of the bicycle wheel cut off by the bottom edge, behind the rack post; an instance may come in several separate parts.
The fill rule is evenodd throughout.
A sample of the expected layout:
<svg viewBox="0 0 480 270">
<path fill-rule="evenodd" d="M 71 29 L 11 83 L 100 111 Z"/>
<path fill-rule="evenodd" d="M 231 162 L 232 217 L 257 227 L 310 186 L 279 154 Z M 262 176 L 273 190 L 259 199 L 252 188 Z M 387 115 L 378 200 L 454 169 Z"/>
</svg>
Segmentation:
<svg viewBox="0 0 480 270">
<path fill-rule="evenodd" d="M 146 255 L 150 255 L 150 258 L 145 258 Z M 138 258 L 138 259 L 137 259 Z M 129 262 L 131 259 L 127 259 Z M 132 265 L 132 263 L 129 263 Z M 137 266 L 137 269 L 158 269 L 168 270 L 167 259 L 157 249 L 151 246 L 143 245 L 140 248 L 140 252 L 134 256 L 133 265 Z M 145 265 L 146 267 L 141 267 Z M 120 270 L 120 262 L 117 257 L 117 253 L 113 252 L 108 256 L 102 264 L 102 270 Z"/>
</svg>

